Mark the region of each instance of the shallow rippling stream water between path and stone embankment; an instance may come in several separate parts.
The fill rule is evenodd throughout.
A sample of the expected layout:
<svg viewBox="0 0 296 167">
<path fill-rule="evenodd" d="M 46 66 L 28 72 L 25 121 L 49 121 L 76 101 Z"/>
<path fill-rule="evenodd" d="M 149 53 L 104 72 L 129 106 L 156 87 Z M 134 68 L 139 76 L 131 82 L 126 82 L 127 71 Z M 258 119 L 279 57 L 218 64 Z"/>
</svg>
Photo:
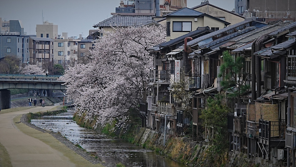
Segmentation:
<svg viewBox="0 0 296 167">
<path fill-rule="evenodd" d="M 82 128 L 73 121 L 73 111 L 56 116 L 44 116 L 31 120 L 39 128 L 60 132 L 74 144 L 79 144 L 88 152 L 96 154 L 107 166 L 121 162 L 126 167 L 184 167 L 154 151 L 128 143 L 123 139 L 114 139 L 104 134 Z M 104 164 L 103 164 L 104 165 Z"/>
</svg>

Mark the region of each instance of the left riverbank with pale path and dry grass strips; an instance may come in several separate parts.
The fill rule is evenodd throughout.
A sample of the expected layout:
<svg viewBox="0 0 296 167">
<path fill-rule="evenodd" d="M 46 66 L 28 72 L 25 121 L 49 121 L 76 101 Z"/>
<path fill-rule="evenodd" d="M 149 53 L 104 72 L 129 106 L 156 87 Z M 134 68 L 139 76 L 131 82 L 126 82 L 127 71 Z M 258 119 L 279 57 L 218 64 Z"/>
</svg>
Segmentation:
<svg viewBox="0 0 296 167">
<path fill-rule="evenodd" d="M 29 108 L 29 107 L 28 107 Z M 0 112 L 0 166 L 98 166 L 78 154 L 83 150 L 68 148 L 73 144 L 60 134 L 41 132 L 27 126 L 22 114 L 42 112 L 53 106 L 30 107 L 23 111 L 1 110 Z M 16 109 L 14 109 L 16 110 Z M 21 122 L 24 122 L 22 123 Z M 57 138 L 57 139 L 56 139 Z M 59 140 L 58 140 L 59 139 Z M 60 141 L 61 140 L 61 141 Z M 72 144 L 72 145 L 71 145 Z M 77 147 L 77 146 L 76 146 Z M 3 153 L 3 154 L 2 154 Z"/>
</svg>

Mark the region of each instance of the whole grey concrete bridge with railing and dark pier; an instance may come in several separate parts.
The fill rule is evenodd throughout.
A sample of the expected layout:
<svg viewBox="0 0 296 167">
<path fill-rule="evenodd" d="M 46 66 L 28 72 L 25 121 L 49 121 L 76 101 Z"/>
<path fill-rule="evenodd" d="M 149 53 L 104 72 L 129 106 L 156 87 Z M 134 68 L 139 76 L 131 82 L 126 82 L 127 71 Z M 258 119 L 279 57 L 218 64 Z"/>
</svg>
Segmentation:
<svg viewBox="0 0 296 167">
<path fill-rule="evenodd" d="M 59 75 L 0 74 L 0 107 L 10 108 L 10 91 L 7 89 L 52 89 L 65 90 Z"/>
</svg>

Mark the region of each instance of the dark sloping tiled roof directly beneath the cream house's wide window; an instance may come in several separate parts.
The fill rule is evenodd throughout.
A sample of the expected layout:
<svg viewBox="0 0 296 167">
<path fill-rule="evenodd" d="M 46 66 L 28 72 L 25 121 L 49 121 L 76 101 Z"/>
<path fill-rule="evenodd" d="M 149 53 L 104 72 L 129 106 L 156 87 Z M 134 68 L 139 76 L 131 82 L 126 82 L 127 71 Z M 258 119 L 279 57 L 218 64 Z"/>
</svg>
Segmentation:
<svg viewBox="0 0 296 167">
<path fill-rule="evenodd" d="M 164 42 L 164 43 L 161 43 L 159 44 L 161 47 L 168 47 L 168 46 L 171 46 L 175 43 L 178 43 L 180 41 L 184 41 L 184 39 L 187 37 L 187 36 L 190 36 L 190 37 L 193 37 L 193 36 L 196 36 L 196 35 L 199 35 L 199 34 L 202 34 L 203 32 L 205 31 L 208 31 L 208 32 L 211 32 L 210 28 L 209 27 L 198 27 L 197 30 L 195 31 L 191 31 L 185 35 L 182 35 L 182 36 L 179 36 L 178 38 L 175 38 L 175 39 L 171 39 L 170 41 L 168 42 Z"/>
</svg>

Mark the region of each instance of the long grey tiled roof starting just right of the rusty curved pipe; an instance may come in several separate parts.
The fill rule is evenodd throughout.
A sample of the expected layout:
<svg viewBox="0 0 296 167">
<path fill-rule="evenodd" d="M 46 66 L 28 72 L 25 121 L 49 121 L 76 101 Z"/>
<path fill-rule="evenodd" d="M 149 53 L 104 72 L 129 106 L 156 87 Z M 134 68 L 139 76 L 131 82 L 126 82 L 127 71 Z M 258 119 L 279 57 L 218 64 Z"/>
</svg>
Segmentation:
<svg viewBox="0 0 296 167">
<path fill-rule="evenodd" d="M 197 39 L 193 39 L 192 41 L 188 42 L 187 44 L 190 45 L 190 46 L 195 46 L 197 45 L 199 42 L 205 40 L 205 39 L 208 39 L 205 43 L 203 42 L 202 45 L 204 44 L 207 44 L 207 43 L 210 43 L 212 42 L 213 40 L 213 37 L 222 37 L 222 36 L 225 36 L 227 34 L 231 34 L 231 33 L 234 33 L 238 30 L 241 30 L 243 28 L 246 28 L 246 27 L 249 27 L 250 26 L 250 23 L 253 22 L 254 20 L 244 20 L 242 22 L 239 22 L 239 23 L 236 23 L 234 25 L 230 25 L 228 27 L 225 27 L 225 28 L 222 28 L 218 31 L 214 31 L 210 34 L 207 34 L 207 35 L 204 35 L 204 36 L 201 36 Z M 226 33 L 227 32 L 227 33 Z"/>
</svg>

